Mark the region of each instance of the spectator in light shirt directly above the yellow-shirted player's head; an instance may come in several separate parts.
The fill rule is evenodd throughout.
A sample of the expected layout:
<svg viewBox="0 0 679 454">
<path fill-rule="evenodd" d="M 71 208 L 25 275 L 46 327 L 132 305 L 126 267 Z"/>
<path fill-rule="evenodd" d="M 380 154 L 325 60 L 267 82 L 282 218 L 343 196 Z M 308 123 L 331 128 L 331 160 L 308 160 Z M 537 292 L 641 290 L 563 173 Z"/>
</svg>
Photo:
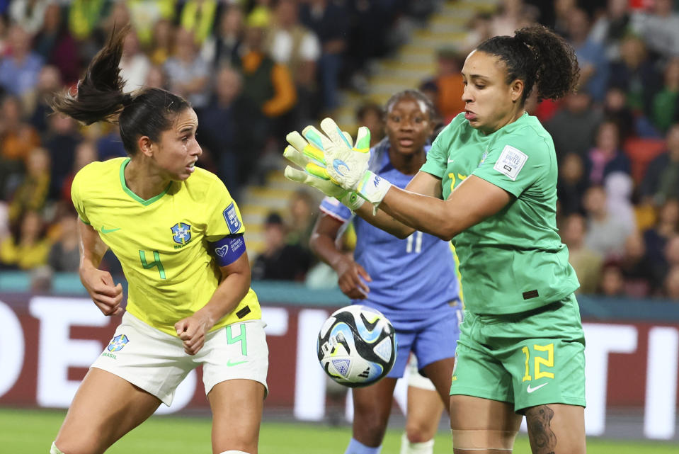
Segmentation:
<svg viewBox="0 0 679 454">
<path fill-rule="evenodd" d="M 164 64 L 170 91 L 188 99 L 195 110 L 207 106 L 207 82 L 210 69 L 195 47 L 190 30 L 179 28 L 175 35 L 175 52 Z"/>
</svg>

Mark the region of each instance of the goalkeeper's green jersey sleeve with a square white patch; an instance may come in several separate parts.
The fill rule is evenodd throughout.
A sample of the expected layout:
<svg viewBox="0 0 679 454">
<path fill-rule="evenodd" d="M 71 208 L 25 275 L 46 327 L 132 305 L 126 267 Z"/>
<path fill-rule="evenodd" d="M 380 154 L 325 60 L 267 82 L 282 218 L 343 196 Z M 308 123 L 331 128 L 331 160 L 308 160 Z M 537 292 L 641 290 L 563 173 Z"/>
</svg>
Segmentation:
<svg viewBox="0 0 679 454">
<path fill-rule="evenodd" d="M 543 137 L 508 135 L 493 144 L 472 175 L 518 197 L 549 171 L 551 161 L 549 145 Z"/>
</svg>

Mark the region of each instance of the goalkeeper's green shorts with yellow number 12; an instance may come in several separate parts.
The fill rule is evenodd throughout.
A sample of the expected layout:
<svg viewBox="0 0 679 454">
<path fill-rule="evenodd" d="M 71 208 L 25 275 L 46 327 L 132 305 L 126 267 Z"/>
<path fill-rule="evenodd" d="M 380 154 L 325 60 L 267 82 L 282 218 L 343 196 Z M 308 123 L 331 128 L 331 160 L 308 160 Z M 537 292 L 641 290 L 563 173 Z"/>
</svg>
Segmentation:
<svg viewBox="0 0 679 454">
<path fill-rule="evenodd" d="M 464 313 L 451 395 L 585 406 L 585 337 L 574 295 L 518 314 Z"/>
</svg>

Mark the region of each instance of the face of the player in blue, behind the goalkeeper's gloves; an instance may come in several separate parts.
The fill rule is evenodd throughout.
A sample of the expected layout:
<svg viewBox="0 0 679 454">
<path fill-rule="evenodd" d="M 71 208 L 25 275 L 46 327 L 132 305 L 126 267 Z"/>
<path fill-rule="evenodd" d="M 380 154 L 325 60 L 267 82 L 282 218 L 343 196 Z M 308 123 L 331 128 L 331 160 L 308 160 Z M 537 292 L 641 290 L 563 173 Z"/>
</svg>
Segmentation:
<svg viewBox="0 0 679 454">
<path fill-rule="evenodd" d="M 392 149 L 401 154 L 415 154 L 424 149 L 433 125 L 426 104 L 404 96 L 387 112 L 386 129 Z"/>
</svg>

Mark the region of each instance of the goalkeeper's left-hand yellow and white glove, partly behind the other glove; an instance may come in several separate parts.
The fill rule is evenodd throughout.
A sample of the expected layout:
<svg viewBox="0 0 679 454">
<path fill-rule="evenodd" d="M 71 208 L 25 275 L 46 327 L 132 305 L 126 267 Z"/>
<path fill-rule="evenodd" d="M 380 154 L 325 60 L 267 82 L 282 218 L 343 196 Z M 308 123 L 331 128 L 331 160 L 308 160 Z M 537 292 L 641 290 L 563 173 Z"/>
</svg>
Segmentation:
<svg viewBox="0 0 679 454">
<path fill-rule="evenodd" d="M 325 156 L 321 149 L 304 140 L 304 137 L 299 135 L 297 131 L 290 132 L 286 140 L 290 145 L 285 147 L 283 156 L 292 164 L 304 170 L 286 166 L 285 178 L 312 186 L 325 195 L 336 198 L 350 210 L 358 210 L 363 205 L 363 198 L 358 197 L 354 192 L 346 191 L 331 181 L 328 171 L 326 171 Z"/>
</svg>

